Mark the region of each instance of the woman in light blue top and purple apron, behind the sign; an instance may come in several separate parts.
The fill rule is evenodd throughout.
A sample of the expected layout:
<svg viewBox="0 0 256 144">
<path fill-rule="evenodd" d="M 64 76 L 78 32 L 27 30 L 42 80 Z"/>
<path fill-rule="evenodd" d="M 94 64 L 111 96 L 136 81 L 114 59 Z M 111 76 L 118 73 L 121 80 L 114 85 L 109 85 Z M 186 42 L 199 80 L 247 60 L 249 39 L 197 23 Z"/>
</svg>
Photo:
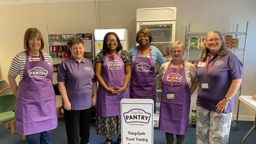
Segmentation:
<svg viewBox="0 0 256 144">
<path fill-rule="evenodd" d="M 166 61 L 158 48 L 151 46 L 152 34 L 149 29 L 141 28 L 137 32 L 138 46 L 129 50 L 132 59 L 132 77 L 130 83 L 131 98 L 145 98 L 154 100 L 156 112 L 156 62 L 161 66 Z"/>
</svg>

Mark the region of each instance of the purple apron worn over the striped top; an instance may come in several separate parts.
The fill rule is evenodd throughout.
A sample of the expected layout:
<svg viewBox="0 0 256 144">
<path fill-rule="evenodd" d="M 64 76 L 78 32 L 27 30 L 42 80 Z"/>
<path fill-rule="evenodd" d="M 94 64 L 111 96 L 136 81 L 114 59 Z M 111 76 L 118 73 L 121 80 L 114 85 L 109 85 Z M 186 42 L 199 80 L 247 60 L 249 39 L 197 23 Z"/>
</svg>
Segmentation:
<svg viewBox="0 0 256 144">
<path fill-rule="evenodd" d="M 56 97 L 52 86 L 52 68 L 44 61 L 28 61 L 27 51 L 23 78 L 18 86 L 15 106 L 16 132 L 36 134 L 57 127 Z"/>
</svg>

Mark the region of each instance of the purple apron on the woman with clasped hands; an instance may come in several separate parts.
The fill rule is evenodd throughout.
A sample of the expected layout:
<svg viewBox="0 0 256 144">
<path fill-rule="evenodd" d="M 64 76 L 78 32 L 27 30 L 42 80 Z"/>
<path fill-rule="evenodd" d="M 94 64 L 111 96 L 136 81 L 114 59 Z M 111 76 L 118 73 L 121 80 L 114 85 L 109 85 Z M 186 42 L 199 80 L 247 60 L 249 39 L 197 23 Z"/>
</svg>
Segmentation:
<svg viewBox="0 0 256 144">
<path fill-rule="evenodd" d="M 108 56 L 108 54 L 106 55 L 102 70 L 102 78 L 109 88 L 123 86 L 125 77 L 124 68 L 124 62 L 118 54 L 112 56 Z M 106 92 L 104 88 L 99 85 L 97 94 L 97 114 L 105 117 L 120 116 L 120 102 L 123 98 L 130 98 L 129 92 L 129 86 L 127 86 L 120 95 L 113 95 Z"/>
</svg>

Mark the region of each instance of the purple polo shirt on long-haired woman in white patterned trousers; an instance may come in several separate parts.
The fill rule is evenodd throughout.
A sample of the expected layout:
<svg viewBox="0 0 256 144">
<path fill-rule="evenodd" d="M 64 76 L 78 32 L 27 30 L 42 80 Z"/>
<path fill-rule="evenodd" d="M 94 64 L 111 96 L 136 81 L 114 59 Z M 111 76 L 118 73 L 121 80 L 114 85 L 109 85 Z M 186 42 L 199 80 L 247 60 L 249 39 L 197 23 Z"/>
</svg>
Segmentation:
<svg viewBox="0 0 256 144">
<path fill-rule="evenodd" d="M 218 54 L 214 55 L 213 58 L 209 58 L 208 67 L 214 62 L 217 56 Z M 199 87 L 196 104 L 197 106 L 215 112 L 215 106 L 226 96 L 232 80 L 242 79 L 242 62 L 232 52 L 228 52 L 224 57 L 220 56 L 207 72 L 210 89 L 202 89 L 202 81 L 204 81 L 206 76 L 206 62 L 198 59 L 197 69 Z M 234 99 L 235 97 L 233 96 L 228 103 L 226 113 L 233 111 Z"/>
</svg>

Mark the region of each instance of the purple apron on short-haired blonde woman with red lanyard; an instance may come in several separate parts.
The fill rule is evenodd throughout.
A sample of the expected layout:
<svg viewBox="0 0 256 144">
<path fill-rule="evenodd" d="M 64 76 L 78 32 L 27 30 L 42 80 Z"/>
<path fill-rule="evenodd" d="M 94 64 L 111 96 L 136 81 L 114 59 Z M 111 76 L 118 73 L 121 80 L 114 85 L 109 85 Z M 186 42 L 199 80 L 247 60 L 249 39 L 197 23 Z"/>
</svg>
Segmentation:
<svg viewBox="0 0 256 144">
<path fill-rule="evenodd" d="M 178 70 L 174 78 L 172 90 L 170 82 L 170 64 L 162 78 L 162 97 L 158 128 L 160 131 L 164 132 L 185 134 L 188 130 L 188 117 L 191 102 L 190 88 L 185 74 L 185 64 L 184 61 L 182 61 L 183 67 Z M 176 71 L 176 68 L 172 68 L 172 77 Z M 174 98 L 167 96 L 173 93 Z"/>
</svg>

